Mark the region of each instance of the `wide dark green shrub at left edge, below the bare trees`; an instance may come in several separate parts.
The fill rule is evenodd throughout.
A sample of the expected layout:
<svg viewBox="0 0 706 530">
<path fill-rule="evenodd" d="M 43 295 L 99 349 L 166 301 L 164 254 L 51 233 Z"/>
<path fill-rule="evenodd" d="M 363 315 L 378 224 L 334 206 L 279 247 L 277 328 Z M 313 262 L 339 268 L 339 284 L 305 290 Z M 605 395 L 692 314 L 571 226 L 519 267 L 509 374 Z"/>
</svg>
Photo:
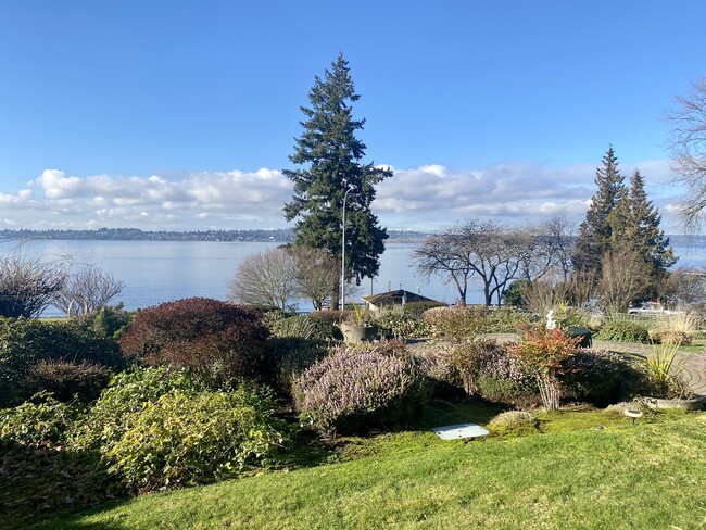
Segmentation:
<svg viewBox="0 0 706 530">
<path fill-rule="evenodd" d="M 92 363 L 121 368 L 117 344 L 79 323 L 0 320 L 0 405 L 18 404 L 41 390 L 31 367 L 40 362 Z"/>
</svg>

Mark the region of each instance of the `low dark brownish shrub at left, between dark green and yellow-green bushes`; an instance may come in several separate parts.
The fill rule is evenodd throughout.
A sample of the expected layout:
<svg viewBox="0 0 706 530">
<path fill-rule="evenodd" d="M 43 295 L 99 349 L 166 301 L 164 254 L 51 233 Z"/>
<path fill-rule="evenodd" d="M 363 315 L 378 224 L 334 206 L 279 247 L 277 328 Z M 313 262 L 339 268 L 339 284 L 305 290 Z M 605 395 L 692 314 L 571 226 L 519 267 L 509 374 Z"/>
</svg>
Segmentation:
<svg viewBox="0 0 706 530">
<path fill-rule="evenodd" d="M 36 392 L 47 390 L 64 402 L 78 396 L 88 403 L 100 395 L 111 375 L 108 367 L 87 361 L 40 361 L 29 368 L 27 379 L 28 387 L 34 384 Z"/>
</svg>

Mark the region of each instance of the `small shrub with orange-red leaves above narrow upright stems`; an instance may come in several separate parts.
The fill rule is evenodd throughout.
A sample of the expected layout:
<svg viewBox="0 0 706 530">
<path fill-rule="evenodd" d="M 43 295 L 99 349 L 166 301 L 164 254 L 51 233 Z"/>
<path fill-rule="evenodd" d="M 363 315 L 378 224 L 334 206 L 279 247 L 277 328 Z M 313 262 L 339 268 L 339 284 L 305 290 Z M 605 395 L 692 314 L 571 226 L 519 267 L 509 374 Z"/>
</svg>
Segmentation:
<svg viewBox="0 0 706 530">
<path fill-rule="evenodd" d="M 549 411 L 559 407 L 562 363 L 573 355 L 579 338 L 565 336 L 559 329 L 527 328 L 512 353 L 533 368 L 542 404 Z"/>
</svg>

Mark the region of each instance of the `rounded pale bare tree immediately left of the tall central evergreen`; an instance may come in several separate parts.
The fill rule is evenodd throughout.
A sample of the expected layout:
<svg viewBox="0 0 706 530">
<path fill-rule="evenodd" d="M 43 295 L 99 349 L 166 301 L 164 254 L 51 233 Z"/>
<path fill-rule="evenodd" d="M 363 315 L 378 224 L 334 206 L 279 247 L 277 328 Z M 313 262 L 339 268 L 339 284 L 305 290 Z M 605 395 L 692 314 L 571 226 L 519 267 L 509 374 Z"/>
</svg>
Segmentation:
<svg viewBox="0 0 706 530">
<path fill-rule="evenodd" d="M 295 294 L 294 257 L 279 248 L 247 256 L 228 282 L 228 299 L 244 304 L 285 310 Z"/>
</svg>

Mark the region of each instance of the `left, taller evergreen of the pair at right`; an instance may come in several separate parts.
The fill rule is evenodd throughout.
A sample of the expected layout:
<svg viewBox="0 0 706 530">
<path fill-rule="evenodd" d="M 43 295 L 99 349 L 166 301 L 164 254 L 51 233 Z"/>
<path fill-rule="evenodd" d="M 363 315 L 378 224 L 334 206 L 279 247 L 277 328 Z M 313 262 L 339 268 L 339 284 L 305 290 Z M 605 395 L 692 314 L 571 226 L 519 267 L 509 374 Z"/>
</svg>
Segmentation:
<svg viewBox="0 0 706 530">
<path fill-rule="evenodd" d="M 579 228 L 571 262 L 577 272 L 595 272 L 600 277 L 601 262 L 610 249 L 612 214 L 626 194 L 625 179 L 618 169 L 613 146 L 603 156 L 603 166 L 596 169 L 595 184 L 598 189 Z"/>
</svg>

